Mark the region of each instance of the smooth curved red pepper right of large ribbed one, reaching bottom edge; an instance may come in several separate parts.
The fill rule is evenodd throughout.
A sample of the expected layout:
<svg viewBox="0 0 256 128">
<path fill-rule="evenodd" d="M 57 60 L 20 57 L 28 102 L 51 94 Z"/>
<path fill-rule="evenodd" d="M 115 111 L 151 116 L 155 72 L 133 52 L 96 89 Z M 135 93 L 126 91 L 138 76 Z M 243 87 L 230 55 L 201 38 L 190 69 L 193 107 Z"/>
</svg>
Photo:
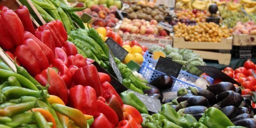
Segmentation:
<svg viewBox="0 0 256 128">
<path fill-rule="evenodd" d="M 106 116 L 112 127 L 118 123 L 118 117 L 114 110 L 101 100 L 97 100 L 97 111 Z"/>
</svg>

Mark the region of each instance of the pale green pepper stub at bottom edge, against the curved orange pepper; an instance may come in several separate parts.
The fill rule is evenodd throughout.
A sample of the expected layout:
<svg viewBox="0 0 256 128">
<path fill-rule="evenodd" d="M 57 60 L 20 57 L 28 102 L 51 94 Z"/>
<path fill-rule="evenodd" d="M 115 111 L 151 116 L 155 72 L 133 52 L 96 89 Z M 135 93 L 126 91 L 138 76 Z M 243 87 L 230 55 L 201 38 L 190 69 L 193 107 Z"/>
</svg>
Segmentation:
<svg viewBox="0 0 256 128">
<path fill-rule="evenodd" d="M 39 111 L 34 111 L 33 117 L 39 128 L 50 128 L 50 126 L 47 124 L 46 119 L 43 117 L 43 115 Z"/>
</svg>

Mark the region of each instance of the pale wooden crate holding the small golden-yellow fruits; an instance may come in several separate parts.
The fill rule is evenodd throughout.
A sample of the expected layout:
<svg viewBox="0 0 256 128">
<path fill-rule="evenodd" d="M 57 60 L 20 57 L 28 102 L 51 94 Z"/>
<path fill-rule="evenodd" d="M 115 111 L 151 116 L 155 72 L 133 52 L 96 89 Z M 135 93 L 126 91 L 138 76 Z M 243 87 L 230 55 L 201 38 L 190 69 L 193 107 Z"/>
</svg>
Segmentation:
<svg viewBox="0 0 256 128">
<path fill-rule="evenodd" d="M 189 49 L 232 49 L 232 37 L 222 38 L 220 42 L 192 42 L 183 37 L 173 36 L 173 47 Z"/>
</svg>

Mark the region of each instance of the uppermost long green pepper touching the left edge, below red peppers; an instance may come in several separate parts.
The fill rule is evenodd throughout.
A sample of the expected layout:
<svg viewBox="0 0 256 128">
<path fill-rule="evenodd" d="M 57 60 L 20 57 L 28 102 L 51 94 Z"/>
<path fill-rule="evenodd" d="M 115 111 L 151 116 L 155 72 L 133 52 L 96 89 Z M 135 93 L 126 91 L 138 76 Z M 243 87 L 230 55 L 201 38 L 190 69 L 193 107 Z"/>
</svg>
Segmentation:
<svg viewBox="0 0 256 128">
<path fill-rule="evenodd" d="M 19 83 L 26 88 L 33 89 L 33 90 L 38 90 L 37 87 L 27 78 L 24 76 L 15 73 L 13 71 L 5 70 L 5 69 L 0 69 L 0 77 L 1 78 L 8 78 L 9 76 L 15 76 Z"/>
</svg>

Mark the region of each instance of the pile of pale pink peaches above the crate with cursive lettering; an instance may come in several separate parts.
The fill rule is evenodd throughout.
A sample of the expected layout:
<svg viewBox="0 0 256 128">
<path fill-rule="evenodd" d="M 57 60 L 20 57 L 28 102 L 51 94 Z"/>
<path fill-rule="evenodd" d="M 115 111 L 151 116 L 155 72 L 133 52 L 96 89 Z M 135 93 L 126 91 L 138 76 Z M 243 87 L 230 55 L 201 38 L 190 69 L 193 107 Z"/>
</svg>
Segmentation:
<svg viewBox="0 0 256 128">
<path fill-rule="evenodd" d="M 128 18 L 124 18 L 118 33 L 131 33 L 148 37 L 169 38 L 167 31 L 164 30 L 162 26 L 158 25 L 158 22 L 155 19 L 145 21 L 144 19 L 130 20 Z"/>
</svg>

